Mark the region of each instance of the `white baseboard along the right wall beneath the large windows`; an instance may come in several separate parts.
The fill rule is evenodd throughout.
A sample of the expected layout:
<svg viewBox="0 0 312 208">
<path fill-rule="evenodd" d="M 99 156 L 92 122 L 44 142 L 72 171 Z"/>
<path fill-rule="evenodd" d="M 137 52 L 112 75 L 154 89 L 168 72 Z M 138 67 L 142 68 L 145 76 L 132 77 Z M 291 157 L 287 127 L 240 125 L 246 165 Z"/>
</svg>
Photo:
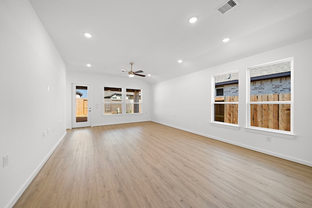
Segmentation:
<svg viewBox="0 0 312 208">
<path fill-rule="evenodd" d="M 238 146 L 238 147 L 243 147 L 243 148 L 246 148 L 246 149 L 249 149 L 249 150 L 258 151 L 258 152 L 261 152 L 261 153 L 264 153 L 264 154 L 272 155 L 272 156 L 275 156 L 275 157 L 279 157 L 279 158 L 282 158 L 282 159 L 285 159 L 285 160 L 290 160 L 292 162 L 296 162 L 296 163 L 300 163 L 300 164 L 312 167 L 312 163 L 309 162 L 309 161 L 300 160 L 300 159 L 289 157 L 289 156 L 286 156 L 286 155 L 283 155 L 283 154 L 278 154 L 278 153 L 275 153 L 275 152 L 272 152 L 272 151 L 266 151 L 266 150 L 254 148 L 252 146 L 240 144 L 240 143 L 237 143 L 237 142 L 233 142 L 233 141 L 230 141 L 230 140 L 218 138 L 218 137 L 215 137 L 215 136 L 212 136 L 212 135 L 208 135 L 208 134 L 203 134 L 203 133 L 200 133 L 200 132 L 194 132 L 194 131 L 191 131 L 191 130 L 188 130 L 188 129 L 176 127 L 176 126 L 169 125 L 169 124 L 166 124 L 166 123 L 162 123 L 162 122 L 158 122 L 158 121 L 154 121 L 154 120 L 151 120 L 151 121 L 153 121 L 155 123 L 158 123 L 158 124 L 165 125 L 165 126 L 169 126 L 169 127 L 175 128 L 175 129 L 179 129 L 179 130 L 182 130 L 182 131 L 185 131 L 185 132 L 195 133 L 197 135 L 201 135 L 201 136 L 204 136 L 204 137 L 207 137 L 207 138 L 215 139 L 215 140 L 218 140 L 218 141 L 221 141 L 221 142 L 225 142 L 225 143 L 228 143 L 228 144 L 232 144 L 232 145 L 235 145 L 235 146 Z"/>
</svg>

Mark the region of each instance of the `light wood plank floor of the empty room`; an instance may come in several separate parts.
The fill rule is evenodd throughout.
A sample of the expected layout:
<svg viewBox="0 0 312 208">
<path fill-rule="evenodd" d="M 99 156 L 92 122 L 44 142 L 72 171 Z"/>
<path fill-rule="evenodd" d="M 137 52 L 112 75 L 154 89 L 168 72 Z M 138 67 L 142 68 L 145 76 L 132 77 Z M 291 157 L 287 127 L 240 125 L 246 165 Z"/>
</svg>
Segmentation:
<svg viewBox="0 0 312 208">
<path fill-rule="evenodd" d="M 15 208 L 311 208 L 312 167 L 153 122 L 68 130 Z"/>
</svg>

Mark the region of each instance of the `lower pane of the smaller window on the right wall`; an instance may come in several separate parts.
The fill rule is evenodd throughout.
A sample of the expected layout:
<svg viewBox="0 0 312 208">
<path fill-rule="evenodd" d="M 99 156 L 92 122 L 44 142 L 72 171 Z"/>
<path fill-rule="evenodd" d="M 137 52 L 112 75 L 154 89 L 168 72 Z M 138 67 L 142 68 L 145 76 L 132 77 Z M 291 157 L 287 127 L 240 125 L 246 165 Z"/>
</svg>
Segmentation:
<svg viewBox="0 0 312 208">
<path fill-rule="evenodd" d="M 238 104 L 215 104 L 215 121 L 238 124 Z"/>
</svg>

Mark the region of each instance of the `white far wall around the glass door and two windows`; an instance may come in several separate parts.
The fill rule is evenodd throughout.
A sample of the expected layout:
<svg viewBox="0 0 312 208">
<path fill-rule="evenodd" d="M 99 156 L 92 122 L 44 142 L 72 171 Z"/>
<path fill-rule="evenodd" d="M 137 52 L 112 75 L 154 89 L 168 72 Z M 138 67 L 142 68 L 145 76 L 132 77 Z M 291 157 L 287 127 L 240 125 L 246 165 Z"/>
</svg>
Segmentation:
<svg viewBox="0 0 312 208">
<path fill-rule="evenodd" d="M 120 123 L 132 123 L 140 121 L 149 121 L 150 116 L 150 85 L 139 78 L 128 78 L 122 76 L 104 76 L 91 73 L 79 73 L 67 71 L 66 81 L 66 106 L 67 117 L 66 127 L 72 128 L 72 83 L 91 84 L 93 93 L 92 107 L 92 126 L 102 126 Z M 147 77 L 146 77 L 147 78 Z M 126 114 L 126 115 L 103 115 L 104 113 L 104 86 L 105 87 L 118 87 L 142 90 L 142 113 L 139 114 Z"/>
</svg>

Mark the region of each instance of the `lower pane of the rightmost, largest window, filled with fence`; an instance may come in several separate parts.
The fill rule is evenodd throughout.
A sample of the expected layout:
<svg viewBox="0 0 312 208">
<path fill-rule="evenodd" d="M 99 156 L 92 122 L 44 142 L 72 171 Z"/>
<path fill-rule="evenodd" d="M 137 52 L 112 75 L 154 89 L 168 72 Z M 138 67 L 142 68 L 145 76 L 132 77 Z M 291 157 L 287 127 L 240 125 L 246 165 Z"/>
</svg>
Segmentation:
<svg viewBox="0 0 312 208">
<path fill-rule="evenodd" d="M 291 105 L 252 104 L 251 126 L 291 131 Z"/>
</svg>

